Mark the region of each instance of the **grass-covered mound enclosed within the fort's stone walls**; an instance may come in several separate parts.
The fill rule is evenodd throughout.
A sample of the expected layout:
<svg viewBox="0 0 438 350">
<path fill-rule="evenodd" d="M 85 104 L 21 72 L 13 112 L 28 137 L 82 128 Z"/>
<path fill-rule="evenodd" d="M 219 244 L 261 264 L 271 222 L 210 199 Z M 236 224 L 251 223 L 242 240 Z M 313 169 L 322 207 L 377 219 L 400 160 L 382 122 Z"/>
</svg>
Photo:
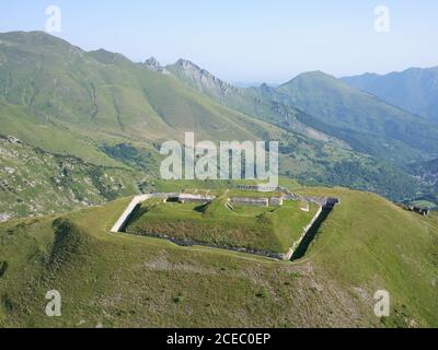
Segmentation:
<svg viewBox="0 0 438 350">
<path fill-rule="evenodd" d="M 244 195 L 251 196 L 247 192 Z M 145 235 L 166 234 L 173 238 L 188 238 L 220 246 L 286 253 L 316 212 L 316 206 L 312 206 L 310 212 L 304 213 L 299 210 L 301 205 L 287 201 L 281 208 L 233 206 L 233 210 L 230 210 L 222 198 L 207 206 L 147 201 L 126 231 Z"/>
</svg>

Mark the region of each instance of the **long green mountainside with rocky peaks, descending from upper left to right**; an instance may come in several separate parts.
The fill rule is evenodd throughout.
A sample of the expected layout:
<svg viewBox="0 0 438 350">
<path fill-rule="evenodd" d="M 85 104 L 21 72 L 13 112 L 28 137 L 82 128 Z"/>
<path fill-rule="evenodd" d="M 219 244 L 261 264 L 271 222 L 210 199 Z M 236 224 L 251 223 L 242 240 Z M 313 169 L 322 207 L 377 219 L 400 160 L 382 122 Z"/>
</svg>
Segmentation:
<svg viewBox="0 0 438 350">
<path fill-rule="evenodd" d="M 0 133 L 33 147 L 97 166 L 131 167 L 140 150 L 159 160 L 160 143 L 183 141 L 185 131 L 197 140 L 278 140 L 281 175 L 396 200 L 417 191 L 402 168 L 372 158 L 365 147 L 355 149 L 348 138 L 362 135 L 322 128 L 321 119 L 276 101 L 274 88 L 232 88 L 187 60 L 166 66 L 169 73 L 154 71 L 161 67 L 157 60 L 88 52 L 43 33 L 0 34 Z M 192 85 L 183 79 L 186 72 L 196 78 Z"/>
</svg>

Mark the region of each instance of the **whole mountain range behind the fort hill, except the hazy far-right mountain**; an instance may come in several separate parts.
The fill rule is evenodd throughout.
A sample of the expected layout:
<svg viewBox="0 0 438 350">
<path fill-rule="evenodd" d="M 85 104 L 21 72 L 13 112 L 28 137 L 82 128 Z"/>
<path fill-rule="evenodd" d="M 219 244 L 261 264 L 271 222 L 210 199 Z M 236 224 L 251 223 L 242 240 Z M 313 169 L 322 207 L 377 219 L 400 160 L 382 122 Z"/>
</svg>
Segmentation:
<svg viewBox="0 0 438 350">
<path fill-rule="evenodd" d="M 38 167 L 35 176 L 45 186 L 56 188 L 60 172 L 67 183 L 92 183 L 97 201 L 139 192 L 158 176 L 159 145 L 182 140 L 184 131 L 198 140 L 278 140 L 284 176 L 393 200 L 423 195 L 425 187 L 406 165 L 438 158 L 438 125 L 323 72 L 277 88 L 237 88 L 184 59 L 166 67 L 153 58 L 136 63 L 42 32 L 0 34 L 0 135 L 25 144 L 3 142 L 3 152 L 15 154 L 15 164 L 24 150 L 43 164 L 42 150 L 44 158 L 73 156 L 99 167 L 93 182 L 94 167 L 81 165 L 76 179 L 62 167 L 53 174 Z M 10 167 L 8 162 L 1 158 L 0 167 Z M 101 186 L 114 168 L 115 184 Z M 27 192 L 44 198 L 44 188 L 34 194 L 27 183 L 20 184 L 21 194 L 2 187 L 4 202 L 16 200 L 0 213 L 60 209 L 37 199 L 23 208 Z M 71 201 L 95 202 L 87 188 L 71 192 Z"/>
</svg>

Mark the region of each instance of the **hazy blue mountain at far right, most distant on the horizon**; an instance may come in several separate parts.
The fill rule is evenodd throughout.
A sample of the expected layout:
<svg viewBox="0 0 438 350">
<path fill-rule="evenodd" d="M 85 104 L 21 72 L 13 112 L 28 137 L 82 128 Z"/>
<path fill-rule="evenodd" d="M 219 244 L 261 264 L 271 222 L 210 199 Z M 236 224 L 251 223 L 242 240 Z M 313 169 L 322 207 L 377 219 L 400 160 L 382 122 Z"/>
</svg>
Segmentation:
<svg viewBox="0 0 438 350">
<path fill-rule="evenodd" d="M 385 75 L 366 73 L 342 80 L 397 107 L 438 122 L 438 67 L 410 68 Z"/>
</svg>

